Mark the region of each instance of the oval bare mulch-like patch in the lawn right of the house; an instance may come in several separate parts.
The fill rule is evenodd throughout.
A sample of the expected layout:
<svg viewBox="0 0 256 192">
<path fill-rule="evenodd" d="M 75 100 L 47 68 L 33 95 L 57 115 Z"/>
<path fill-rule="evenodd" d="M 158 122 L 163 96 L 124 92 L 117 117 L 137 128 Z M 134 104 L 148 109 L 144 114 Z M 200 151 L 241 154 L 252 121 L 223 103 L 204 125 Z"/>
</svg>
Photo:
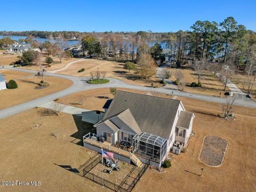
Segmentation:
<svg viewBox="0 0 256 192">
<path fill-rule="evenodd" d="M 209 166 L 221 166 L 224 161 L 228 142 L 217 136 L 204 138 L 199 161 Z"/>
</svg>

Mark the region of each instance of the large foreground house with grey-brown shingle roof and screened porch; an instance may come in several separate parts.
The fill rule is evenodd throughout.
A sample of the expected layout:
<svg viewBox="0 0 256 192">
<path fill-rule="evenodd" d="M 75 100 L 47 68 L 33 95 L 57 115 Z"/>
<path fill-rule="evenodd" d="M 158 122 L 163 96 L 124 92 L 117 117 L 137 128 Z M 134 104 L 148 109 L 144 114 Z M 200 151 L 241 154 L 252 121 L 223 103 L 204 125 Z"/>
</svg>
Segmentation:
<svg viewBox="0 0 256 192">
<path fill-rule="evenodd" d="M 180 100 L 125 91 L 117 91 L 104 108 L 105 116 L 94 125 L 94 138 L 104 137 L 109 145 L 126 141 L 141 162 L 150 161 L 150 165 L 158 167 L 174 142 L 187 145 L 195 117 Z M 90 148 L 86 143 L 84 146 Z"/>
</svg>

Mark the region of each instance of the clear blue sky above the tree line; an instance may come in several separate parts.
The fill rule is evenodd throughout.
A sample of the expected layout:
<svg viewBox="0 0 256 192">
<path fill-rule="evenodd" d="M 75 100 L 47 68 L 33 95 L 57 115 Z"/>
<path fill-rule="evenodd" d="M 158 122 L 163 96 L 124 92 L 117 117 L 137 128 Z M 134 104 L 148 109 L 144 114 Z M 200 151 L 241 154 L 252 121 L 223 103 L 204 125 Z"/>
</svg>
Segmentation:
<svg viewBox="0 0 256 192">
<path fill-rule="evenodd" d="M 169 32 L 227 17 L 256 31 L 255 0 L 0 0 L 0 6 L 0 31 Z"/>
</svg>

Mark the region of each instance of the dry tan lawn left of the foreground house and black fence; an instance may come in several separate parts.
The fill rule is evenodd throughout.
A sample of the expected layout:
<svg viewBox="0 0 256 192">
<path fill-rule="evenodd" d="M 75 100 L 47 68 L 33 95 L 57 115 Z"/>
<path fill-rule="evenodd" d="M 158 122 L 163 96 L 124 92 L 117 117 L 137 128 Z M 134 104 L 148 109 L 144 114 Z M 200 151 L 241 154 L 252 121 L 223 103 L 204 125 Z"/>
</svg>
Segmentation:
<svg viewBox="0 0 256 192">
<path fill-rule="evenodd" d="M 0 120 L 0 178 L 1 181 L 41 181 L 42 185 L 1 186 L 0 190 L 102 190 L 101 186 L 58 166 L 70 165 L 75 169 L 95 154 L 70 142 L 75 138 L 81 139 L 92 125 L 84 124 L 81 118 L 69 114 L 40 116 L 39 110 L 30 109 Z M 41 122 L 43 126 L 35 126 Z"/>
</svg>

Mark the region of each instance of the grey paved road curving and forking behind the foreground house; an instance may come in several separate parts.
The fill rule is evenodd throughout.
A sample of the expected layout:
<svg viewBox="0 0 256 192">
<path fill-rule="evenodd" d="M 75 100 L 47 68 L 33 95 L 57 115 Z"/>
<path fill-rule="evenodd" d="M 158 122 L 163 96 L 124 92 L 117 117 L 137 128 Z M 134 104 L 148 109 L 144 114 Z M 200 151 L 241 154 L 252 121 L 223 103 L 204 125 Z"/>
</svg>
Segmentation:
<svg viewBox="0 0 256 192">
<path fill-rule="evenodd" d="M 23 71 L 26 73 L 32 73 L 36 74 L 38 71 L 34 70 L 28 70 L 28 69 L 20 69 L 20 68 L 13 68 L 10 66 L 5 66 L 6 69 L 10 70 L 17 70 L 17 71 Z M 219 102 L 219 103 L 224 103 L 226 102 L 225 98 L 219 98 L 219 97 L 212 97 L 208 95 L 203 95 L 203 94 L 195 94 L 195 93 L 187 93 L 187 92 L 181 92 L 178 90 L 173 90 L 170 88 L 153 88 L 153 87 L 143 87 L 143 86 L 138 86 L 138 85 L 131 85 L 122 82 L 119 79 L 116 78 L 108 78 L 110 79 L 110 83 L 108 84 L 103 84 L 103 85 L 91 85 L 86 83 L 90 77 L 75 77 L 75 76 L 68 76 L 68 75 L 60 75 L 60 74 L 55 74 L 55 73 L 46 73 L 46 76 L 54 76 L 54 77 L 61 77 L 61 78 L 66 78 L 74 82 L 74 84 L 68 89 L 62 90 L 57 93 L 53 93 L 50 95 L 46 95 L 42 98 L 38 98 L 35 100 L 31 100 L 25 103 L 21 103 L 20 105 L 13 106 L 7 109 L 0 110 L 0 119 L 20 113 L 22 111 L 28 110 L 33 107 L 41 106 L 46 102 L 50 102 L 56 98 L 61 98 L 65 97 L 66 95 L 83 91 L 83 90 L 91 90 L 91 89 L 97 89 L 97 88 L 106 88 L 106 87 L 123 87 L 127 89 L 137 89 L 137 90 L 143 90 L 143 91 L 155 91 L 158 93 L 164 93 L 164 94 L 170 94 L 170 95 L 176 95 L 176 96 L 181 96 L 181 97 L 187 97 L 187 98 L 192 98 L 192 99 L 199 99 L 199 100 L 204 100 L 204 101 L 212 101 L 212 102 Z M 236 100 L 236 105 L 237 106 L 245 106 L 245 107 L 253 107 L 256 108 L 256 102 L 247 100 L 246 98 L 241 98 L 238 97 Z"/>
</svg>

